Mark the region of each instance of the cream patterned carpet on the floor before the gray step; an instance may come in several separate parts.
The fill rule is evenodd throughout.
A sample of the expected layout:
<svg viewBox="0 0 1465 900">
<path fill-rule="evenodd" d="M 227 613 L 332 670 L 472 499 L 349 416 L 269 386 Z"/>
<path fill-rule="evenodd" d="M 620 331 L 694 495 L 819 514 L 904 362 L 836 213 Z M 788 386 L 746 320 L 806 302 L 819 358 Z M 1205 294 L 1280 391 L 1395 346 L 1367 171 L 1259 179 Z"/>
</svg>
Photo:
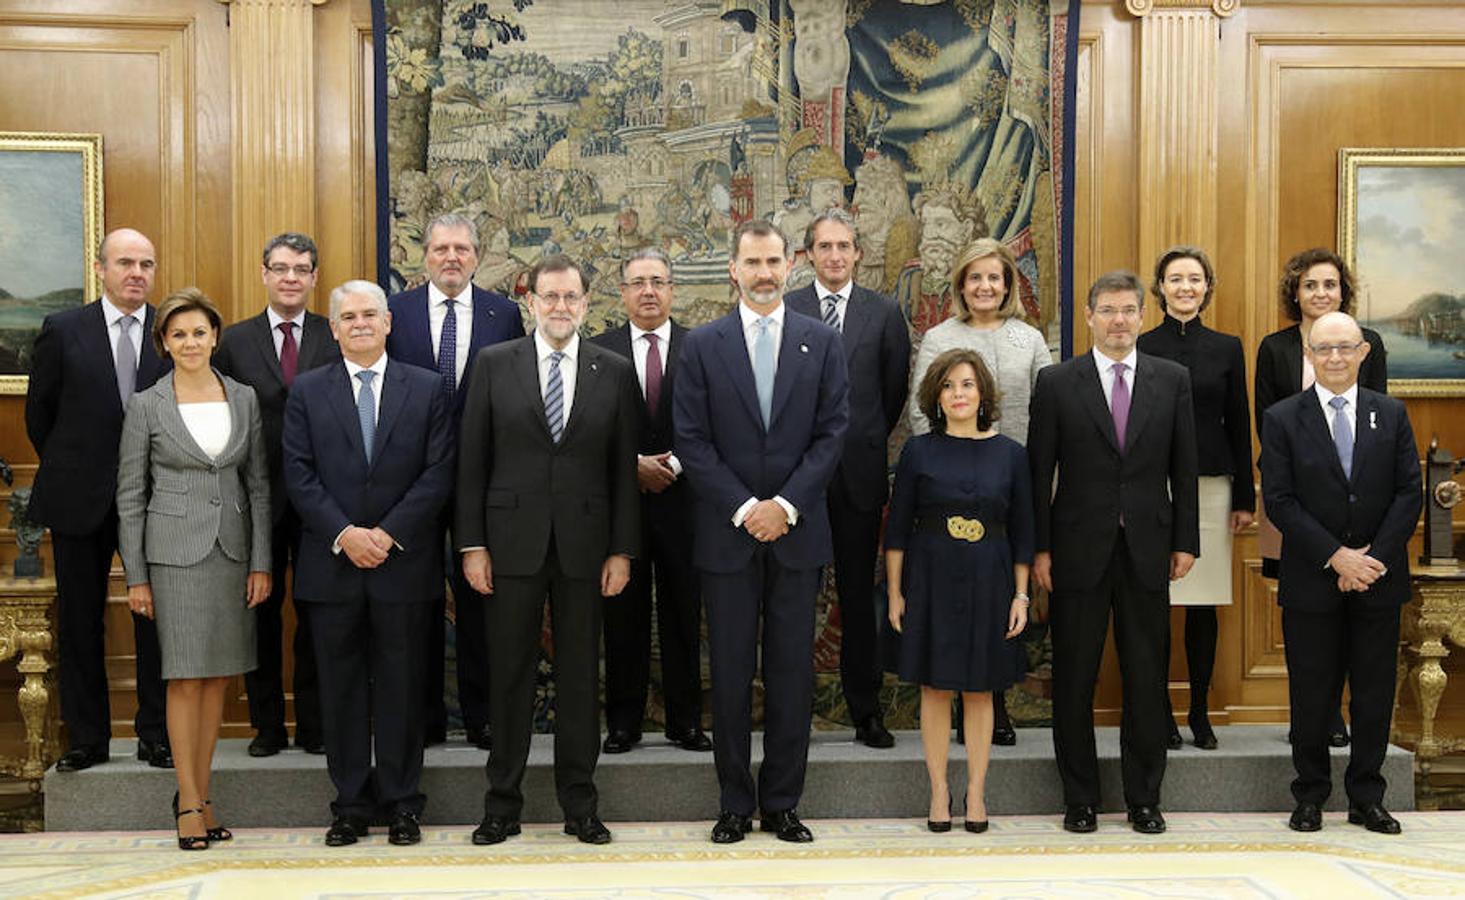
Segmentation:
<svg viewBox="0 0 1465 900">
<path fill-rule="evenodd" d="M 416 847 L 372 834 L 327 849 L 318 830 L 242 830 L 230 844 L 182 853 L 167 833 L 0 836 L 0 896 L 148 897 L 1455 897 L 1465 893 L 1465 814 L 1401 815 L 1381 837 L 1326 816 L 1294 834 L 1276 814 L 1175 814 L 1143 838 L 1106 815 L 1093 836 L 1056 816 L 998 818 L 983 836 L 958 822 L 930 834 L 910 819 L 810 822 L 816 841 L 754 833 L 731 849 L 709 822 L 615 824 L 587 847 L 526 827 L 498 847 L 470 828 L 431 828 Z"/>
</svg>

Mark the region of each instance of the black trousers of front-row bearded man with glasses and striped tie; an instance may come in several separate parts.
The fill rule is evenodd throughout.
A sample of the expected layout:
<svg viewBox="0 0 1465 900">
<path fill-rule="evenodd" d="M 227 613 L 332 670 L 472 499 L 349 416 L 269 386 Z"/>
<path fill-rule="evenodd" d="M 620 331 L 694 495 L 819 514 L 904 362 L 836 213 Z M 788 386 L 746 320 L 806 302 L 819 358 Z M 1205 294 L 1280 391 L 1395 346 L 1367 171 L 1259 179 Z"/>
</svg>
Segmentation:
<svg viewBox="0 0 1465 900">
<path fill-rule="evenodd" d="M 489 709 L 483 814 L 519 819 L 522 783 L 533 734 L 535 670 L 545 595 L 554 629 L 554 784 L 565 818 L 595 815 L 595 764 L 601 755 L 601 597 L 598 580 L 570 578 L 549 542 L 544 567 L 530 576 L 494 576 L 488 600 Z"/>
</svg>

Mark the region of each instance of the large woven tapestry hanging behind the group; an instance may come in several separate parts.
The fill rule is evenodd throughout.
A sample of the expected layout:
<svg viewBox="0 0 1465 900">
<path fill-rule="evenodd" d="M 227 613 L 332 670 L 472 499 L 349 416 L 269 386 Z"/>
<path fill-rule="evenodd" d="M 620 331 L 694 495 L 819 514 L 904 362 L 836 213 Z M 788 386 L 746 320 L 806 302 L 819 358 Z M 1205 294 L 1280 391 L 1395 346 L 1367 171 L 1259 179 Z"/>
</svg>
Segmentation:
<svg viewBox="0 0 1465 900">
<path fill-rule="evenodd" d="M 801 248 L 838 205 L 858 226 L 856 280 L 895 298 L 914 343 L 951 315 L 952 259 L 990 236 L 1018 259 L 1024 318 L 1068 349 L 1078 0 L 374 7 L 378 276 L 391 292 L 425 280 L 423 227 L 459 211 L 478 223 L 482 287 L 523 302 L 535 261 L 568 254 L 589 274 L 593 334 L 626 321 L 620 261 L 658 246 L 672 315 L 694 327 L 735 303 L 738 223 L 769 218 Z M 812 280 L 798 249 L 788 287 Z M 816 726 L 848 724 L 826 582 Z M 916 692 L 888 692 L 889 721 L 908 727 Z M 546 683 L 545 721 L 551 698 Z"/>
</svg>

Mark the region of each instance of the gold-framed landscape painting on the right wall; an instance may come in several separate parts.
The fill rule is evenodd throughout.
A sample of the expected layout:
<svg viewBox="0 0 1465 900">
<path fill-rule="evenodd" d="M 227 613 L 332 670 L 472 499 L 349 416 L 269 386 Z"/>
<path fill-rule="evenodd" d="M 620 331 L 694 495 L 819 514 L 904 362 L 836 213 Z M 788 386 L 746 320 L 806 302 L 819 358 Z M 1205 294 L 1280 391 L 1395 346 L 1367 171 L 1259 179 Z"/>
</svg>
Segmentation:
<svg viewBox="0 0 1465 900">
<path fill-rule="evenodd" d="M 1338 252 L 1355 317 L 1389 350 L 1390 394 L 1465 396 L 1462 246 L 1465 148 L 1338 151 Z"/>
</svg>

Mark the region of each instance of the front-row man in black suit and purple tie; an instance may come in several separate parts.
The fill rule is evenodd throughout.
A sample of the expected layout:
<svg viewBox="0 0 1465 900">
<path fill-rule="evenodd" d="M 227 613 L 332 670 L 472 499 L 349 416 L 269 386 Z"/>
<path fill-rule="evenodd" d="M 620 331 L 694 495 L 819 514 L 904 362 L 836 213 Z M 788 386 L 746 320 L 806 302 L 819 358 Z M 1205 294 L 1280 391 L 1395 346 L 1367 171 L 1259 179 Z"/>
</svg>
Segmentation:
<svg viewBox="0 0 1465 900">
<path fill-rule="evenodd" d="M 1135 350 L 1143 314 L 1134 274 L 1094 281 L 1093 352 L 1039 372 L 1027 432 L 1033 576 L 1052 592 L 1053 749 L 1064 828 L 1077 833 L 1099 827 L 1093 696 L 1110 611 L 1124 674 L 1124 799 L 1135 831 L 1165 831 L 1169 582 L 1200 553 L 1195 421 L 1185 368 Z"/>
</svg>

